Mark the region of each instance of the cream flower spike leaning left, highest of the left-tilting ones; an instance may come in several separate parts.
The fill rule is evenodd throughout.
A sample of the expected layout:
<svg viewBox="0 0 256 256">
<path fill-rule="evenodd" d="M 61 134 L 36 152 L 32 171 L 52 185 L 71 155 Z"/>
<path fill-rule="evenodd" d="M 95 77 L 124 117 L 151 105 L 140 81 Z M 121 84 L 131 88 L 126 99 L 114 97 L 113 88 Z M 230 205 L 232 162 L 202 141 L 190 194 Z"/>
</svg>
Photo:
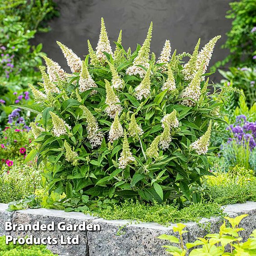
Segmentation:
<svg viewBox="0 0 256 256">
<path fill-rule="evenodd" d="M 59 48 L 61 49 L 67 64 L 71 69 L 72 73 L 80 72 L 82 69 L 82 60 L 76 55 L 73 50 L 69 49 L 67 46 L 57 41 Z"/>
</svg>

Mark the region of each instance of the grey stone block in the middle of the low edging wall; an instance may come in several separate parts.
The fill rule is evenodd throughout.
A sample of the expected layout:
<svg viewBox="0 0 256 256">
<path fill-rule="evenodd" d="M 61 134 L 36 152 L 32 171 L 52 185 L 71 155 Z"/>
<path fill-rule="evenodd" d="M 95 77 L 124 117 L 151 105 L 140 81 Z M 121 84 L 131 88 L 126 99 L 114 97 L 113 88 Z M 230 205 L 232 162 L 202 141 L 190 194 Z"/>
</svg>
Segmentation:
<svg viewBox="0 0 256 256">
<path fill-rule="evenodd" d="M 162 245 L 168 241 L 157 238 L 161 234 L 175 235 L 172 228 L 156 223 L 130 223 L 128 220 L 96 219 L 91 223 L 101 224 L 100 232 L 87 232 L 90 256 L 163 256 Z M 121 228 L 123 226 L 123 228 Z M 123 233 L 118 235 L 118 232 Z M 184 235 L 187 242 L 187 234 Z"/>
</svg>

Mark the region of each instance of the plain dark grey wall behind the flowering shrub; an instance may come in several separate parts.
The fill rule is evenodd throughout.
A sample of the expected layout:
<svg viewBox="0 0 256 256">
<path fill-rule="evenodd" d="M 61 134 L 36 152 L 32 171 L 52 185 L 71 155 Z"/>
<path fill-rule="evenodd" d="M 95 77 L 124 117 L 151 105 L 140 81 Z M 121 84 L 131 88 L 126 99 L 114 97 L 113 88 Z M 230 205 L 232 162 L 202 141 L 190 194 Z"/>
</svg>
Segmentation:
<svg viewBox="0 0 256 256">
<path fill-rule="evenodd" d="M 231 21 L 225 18 L 231 0 L 56 0 L 60 17 L 50 22 L 49 33 L 37 34 L 34 43 L 43 43 L 43 50 L 69 72 L 65 59 L 55 43 L 61 41 L 79 56 L 87 54 L 87 39 L 95 49 L 101 17 L 105 19 L 110 41 L 116 41 L 123 30 L 123 46 L 144 41 L 153 21 L 151 50 L 158 56 L 166 39 L 179 53 L 192 52 L 199 37 L 204 45 L 221 35 L 210 64 L 221 60 L 228 51 L 220 49 Z M 112 48 L 114 48 L 114 43 Z M 219 76 L 211 76 L 218 80 Z"/>
</svg>

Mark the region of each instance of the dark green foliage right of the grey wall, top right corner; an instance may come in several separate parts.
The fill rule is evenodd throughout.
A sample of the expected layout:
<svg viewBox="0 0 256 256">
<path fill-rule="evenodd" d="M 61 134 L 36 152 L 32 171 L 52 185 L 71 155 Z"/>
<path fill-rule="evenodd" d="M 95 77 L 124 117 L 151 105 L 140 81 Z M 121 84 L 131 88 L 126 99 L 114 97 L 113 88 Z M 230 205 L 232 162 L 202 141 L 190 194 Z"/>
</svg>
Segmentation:
<svg viewBox="0 0 256 256">
<path fill-rule="evenodd" d="M 229 4 L 231 9 L 226 18 L 233 19 L 228 39 L 223 48 L 230 54 L 215 64 L 215 67 L 231 61 L 235 67 L 253 66 L 256 61 L 256 3 L 254 0 L 240 0 Z"/>
</svg>

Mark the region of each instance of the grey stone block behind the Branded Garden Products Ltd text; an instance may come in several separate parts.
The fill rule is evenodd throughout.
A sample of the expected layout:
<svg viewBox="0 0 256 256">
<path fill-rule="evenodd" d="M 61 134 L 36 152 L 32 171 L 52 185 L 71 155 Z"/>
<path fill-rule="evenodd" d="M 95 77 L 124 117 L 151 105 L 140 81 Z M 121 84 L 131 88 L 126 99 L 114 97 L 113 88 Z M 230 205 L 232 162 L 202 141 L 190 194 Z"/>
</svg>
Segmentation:
<svg viewBox="0 0 256 256">
<path fill-rule="evenodd" d="M 84 215 L 77 212 L 64 212 L 62 210 L 47 210 L 47 209 L 28 209 L 19 210 L 14 213 L 13 224 L 36 224 L 37 221 L 44 224 L 50 224 L 52 221 L 55 222 L 55 231 L 12 231 L 13 237 L 24 237 L 32 234 L 34 237 L 42 238 L 50 236 L 58 239 L 57 245 L 47 245 L 47 248 L 52 252 L 61 255 L 72 255 L 72 256 L 87 256 L 88 245 L 87 245 L 87 231 L 59 231 L 57 225 L 59 222 L 64 221 L 66 224 L 81 224 L 82 221 L 95 219 L 90 215 Z M 79 236 L 78 245 L 61 245 L 60 237 L 64 238 L 70 236 Z"/>
</svg>

